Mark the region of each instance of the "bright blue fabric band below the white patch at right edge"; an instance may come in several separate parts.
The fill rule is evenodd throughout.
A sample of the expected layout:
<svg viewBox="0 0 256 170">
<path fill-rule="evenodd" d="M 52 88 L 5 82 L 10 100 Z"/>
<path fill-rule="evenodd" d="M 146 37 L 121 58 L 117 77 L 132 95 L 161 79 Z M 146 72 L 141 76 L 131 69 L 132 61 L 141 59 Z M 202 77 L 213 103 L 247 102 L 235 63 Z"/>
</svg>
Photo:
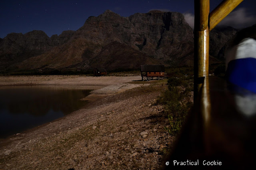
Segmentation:
<svg viewBox="0 0 256 170">
<path fill-rule="evenodd" d="M 256 58 L 230 61 L 226 70 L 226 78 L 230 83 L 256 93 Z"/>
</svg>

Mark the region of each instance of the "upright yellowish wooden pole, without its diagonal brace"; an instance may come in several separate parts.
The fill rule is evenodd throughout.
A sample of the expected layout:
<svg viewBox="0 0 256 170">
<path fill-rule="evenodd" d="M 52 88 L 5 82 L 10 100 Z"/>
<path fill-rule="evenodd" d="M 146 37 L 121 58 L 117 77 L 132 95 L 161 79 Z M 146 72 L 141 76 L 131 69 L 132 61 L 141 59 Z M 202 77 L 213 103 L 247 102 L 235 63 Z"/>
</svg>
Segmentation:
<svg viewBox="0 0 256 170">
<path fill-rule="evenodd" d="M 209 74 L 209 0 L 194 0 L 194 100 Z"/>
</svg>

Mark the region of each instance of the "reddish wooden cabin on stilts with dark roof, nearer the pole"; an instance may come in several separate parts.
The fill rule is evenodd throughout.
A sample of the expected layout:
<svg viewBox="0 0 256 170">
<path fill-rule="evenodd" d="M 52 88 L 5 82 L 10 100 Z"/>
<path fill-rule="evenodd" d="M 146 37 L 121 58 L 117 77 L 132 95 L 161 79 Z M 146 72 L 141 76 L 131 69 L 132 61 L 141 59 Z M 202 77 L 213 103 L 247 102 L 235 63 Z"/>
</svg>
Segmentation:
<svg viewBox="0 0 256 170">
<path fill-rule="evenodd" d="M 164 65 L 140 65 L 142 81 L 148 81 L 150 78 L 164 78 Z"/>
</svg>

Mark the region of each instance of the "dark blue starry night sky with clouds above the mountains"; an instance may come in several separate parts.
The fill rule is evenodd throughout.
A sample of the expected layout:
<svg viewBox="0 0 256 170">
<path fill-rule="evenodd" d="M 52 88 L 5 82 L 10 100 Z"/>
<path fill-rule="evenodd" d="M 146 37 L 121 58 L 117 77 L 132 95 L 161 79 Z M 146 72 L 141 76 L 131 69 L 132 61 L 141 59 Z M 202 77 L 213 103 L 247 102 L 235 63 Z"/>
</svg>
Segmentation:
<svg viewBox="0 0 256 170">
<path fill-rule="evenodd" d="M 222 0 L 210 0 L 213 10 Z M 220 25 L 244 28 L 256 24 L 256 0 L 244 0 Z M 150 10 L 184 14 L 193 28 L 193 0 L 4 0 L 0 3 L 0 38 L 11 32 L 42 30 L 48 36 L 65 30 L 78 30 L 89 16 L 112 10 L 130 16 Z"/>
</svg>

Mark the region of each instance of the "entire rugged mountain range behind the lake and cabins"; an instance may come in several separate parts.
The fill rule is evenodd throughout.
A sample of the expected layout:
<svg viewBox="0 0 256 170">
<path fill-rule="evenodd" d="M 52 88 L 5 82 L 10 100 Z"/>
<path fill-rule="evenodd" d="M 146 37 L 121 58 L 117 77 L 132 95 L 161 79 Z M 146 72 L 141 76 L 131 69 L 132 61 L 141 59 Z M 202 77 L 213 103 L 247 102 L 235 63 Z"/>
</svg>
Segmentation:
<svg viewBox="0 0 256 170">
<path fill-rule="evenodd" d="M 210 55 L 222 59 L 229 28 L 210 33 Z M 192 66 L 193 30 L 178 12 L 122 17 L 106 10 L 77 31 L 49 38 L 42 31 L 11 33 L 0 40 L 0 69 L 138 69 L 141 64 Z"/>
</svg>

